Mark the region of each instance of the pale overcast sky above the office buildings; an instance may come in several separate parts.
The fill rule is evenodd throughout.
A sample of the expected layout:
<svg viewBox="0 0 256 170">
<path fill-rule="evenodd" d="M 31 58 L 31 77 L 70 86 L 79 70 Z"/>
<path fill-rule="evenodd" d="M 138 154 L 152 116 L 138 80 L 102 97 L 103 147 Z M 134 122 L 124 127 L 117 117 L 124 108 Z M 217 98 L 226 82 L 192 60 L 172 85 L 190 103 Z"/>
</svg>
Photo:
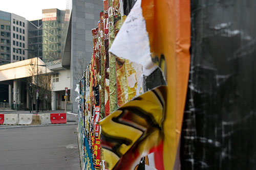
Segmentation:
<svg viewBox="0 0 256 170">
<path fill-rule="evenodd" d="M 66 10 L 66 4 L 67 0 L 2 0 L 0 10 L 35 20 L 42 18 L 42 9 Z"/>
</svg>

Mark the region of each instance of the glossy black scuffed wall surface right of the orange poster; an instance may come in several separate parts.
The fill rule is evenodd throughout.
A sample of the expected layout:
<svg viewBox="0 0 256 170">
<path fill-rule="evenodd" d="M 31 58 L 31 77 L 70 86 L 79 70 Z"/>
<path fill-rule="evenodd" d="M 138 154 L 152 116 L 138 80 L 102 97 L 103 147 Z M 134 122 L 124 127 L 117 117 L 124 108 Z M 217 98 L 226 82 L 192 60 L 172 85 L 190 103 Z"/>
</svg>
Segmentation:
<svg viewBox="0 0 256 170">
<path fill-rule="evenodd" d="M 256 169 L 256 1 L 191 0 L 181 169 Z"/>
</svg>

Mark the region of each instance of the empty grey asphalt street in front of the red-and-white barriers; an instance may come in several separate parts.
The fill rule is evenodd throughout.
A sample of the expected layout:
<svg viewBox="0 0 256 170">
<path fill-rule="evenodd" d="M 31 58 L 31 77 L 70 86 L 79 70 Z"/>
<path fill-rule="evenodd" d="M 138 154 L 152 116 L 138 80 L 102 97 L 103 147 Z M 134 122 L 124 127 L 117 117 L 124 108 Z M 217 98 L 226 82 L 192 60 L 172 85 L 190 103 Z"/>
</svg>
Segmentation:
<svg viewBox="0 0 256 170">
<path fill-rule="evenodd" d="M 0 169 L 80 169 L 76 128 L 0 129 Z"/>
</svg>

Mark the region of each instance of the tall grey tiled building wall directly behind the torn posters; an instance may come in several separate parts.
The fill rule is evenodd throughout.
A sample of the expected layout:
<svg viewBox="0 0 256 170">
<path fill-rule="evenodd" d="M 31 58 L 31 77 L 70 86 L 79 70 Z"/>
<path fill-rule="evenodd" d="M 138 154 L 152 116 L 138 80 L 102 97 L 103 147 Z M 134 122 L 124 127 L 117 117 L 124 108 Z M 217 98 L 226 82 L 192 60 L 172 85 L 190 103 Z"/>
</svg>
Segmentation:
<svg viewBox="0 0 256 170">
<path fill-rule="evenodd" d="M 71 33 L 71 101 L 75 101 L 76 84 L 91 61 L 93 53 L 92 29 L 98 27 L 99 13 L 103 10 L 102 0 L 73 0 Z M 77 113 L 77 103 L 73 112 Z"/>
</svg>

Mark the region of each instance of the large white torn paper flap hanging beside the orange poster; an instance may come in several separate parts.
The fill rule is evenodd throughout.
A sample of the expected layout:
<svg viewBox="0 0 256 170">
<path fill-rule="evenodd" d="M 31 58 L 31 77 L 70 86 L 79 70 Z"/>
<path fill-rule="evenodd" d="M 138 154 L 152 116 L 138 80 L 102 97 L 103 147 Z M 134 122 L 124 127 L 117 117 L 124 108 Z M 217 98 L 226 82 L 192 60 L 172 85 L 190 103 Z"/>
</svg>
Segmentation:
<svg viewBox="0 0 256 170">
<path fill-rule="evenodd" d="M 145 69 L 154 66 L 141 0 L 135 3 L 109 51 L 118 57 L 141 64 Z"/>
</svg>

